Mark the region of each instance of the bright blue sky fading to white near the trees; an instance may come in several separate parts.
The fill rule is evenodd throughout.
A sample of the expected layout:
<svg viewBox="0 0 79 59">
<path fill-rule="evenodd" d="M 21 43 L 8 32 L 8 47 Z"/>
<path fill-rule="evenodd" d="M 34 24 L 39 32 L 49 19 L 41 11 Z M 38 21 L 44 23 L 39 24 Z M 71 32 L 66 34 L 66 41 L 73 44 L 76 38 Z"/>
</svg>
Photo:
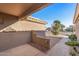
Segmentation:
<svg viewBox="0 0 79 59">
<path fill-rule="evenodd" d="M 75 8 L 75 3 L 56 3 L 35 12 L 32 16 L 47 21 L 46 27 L 50 27 L 54 20 L 60 20 L 68 27 L 73 24 Z"/>
</svg>

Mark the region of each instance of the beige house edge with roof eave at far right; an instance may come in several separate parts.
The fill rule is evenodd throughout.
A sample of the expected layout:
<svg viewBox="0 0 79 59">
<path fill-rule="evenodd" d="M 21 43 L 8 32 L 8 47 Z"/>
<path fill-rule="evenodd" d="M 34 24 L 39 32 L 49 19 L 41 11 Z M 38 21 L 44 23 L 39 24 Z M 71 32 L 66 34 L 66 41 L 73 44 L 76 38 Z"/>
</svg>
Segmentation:
<svg viewBox="0 0 79 59">
<path fill-rule="evenodd" d="M 76 11 L 75 11 L 73 23 L 74 23 L 75 33 L 76 33 L 77 38 L 79 40 L 79 4 L 77 4 L 77 6 L 76 6 Z"/>
</svg>

